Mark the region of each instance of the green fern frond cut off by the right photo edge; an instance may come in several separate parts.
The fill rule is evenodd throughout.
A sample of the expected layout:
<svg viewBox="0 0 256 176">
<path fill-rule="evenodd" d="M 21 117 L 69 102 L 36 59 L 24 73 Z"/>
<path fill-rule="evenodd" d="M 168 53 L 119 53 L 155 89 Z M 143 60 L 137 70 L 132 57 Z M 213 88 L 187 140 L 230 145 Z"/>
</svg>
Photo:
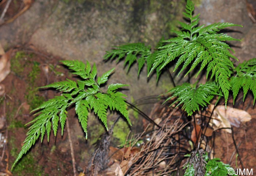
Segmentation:
<svg viewBox="0 0 256 176">
<path fill-rule="evenodd" d="M 238 64 L 234 71 L 236 75 L 230 78 L 231 90 L 233 91 L 233 104 L 235 103 L 239 90 L 242 88 L 244 93 L 243 101 L 248 90 L 251 90 L 254 97 L 254 105 L 256 100 L 256 58 Z"/>
</svg>

